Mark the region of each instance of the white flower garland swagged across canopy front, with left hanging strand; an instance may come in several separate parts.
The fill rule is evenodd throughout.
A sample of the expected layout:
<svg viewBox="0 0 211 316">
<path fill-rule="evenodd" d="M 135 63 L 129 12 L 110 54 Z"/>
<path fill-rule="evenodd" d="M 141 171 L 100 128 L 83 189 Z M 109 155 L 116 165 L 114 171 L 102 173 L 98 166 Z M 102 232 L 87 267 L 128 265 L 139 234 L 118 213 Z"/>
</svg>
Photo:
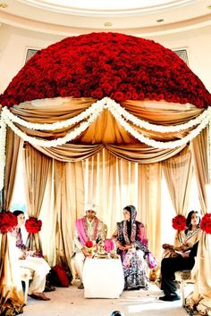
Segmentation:
<svg viewBox="0 0 211 316">
<path fill-rule="evenodd" d="M 34 146 L 43 146 L 43 147 L 51 147 L 51 146 L 62 146 L 63 144 L 70 142 L 76 137 L 80 136 L 80 134 L 89 128 L 89 126 L 96 121 L 99 114 L 104 110 L 108 109 L 113 115 L 114 118 L 122 125 L 122 127 L 127 130 L 133 137 L 139 139 L 141 143 L 144 143 L 148 146 L 153 146 L 160 149 L 172 149 L 178 146 L 182 146 L 190 142 L 194 137 L 197 137 L 198 134 L 204 129 L 208 123 L 210 123 L 211 118 L 211 108 L 209 107 L 203 113 L 201 113 L 196 119 L 190 120 L 187 123 L 175 126 L 159 126 L 156 124 L 151 124 L 148 121 L 139 120 L 131 113 L 127 112 L 122 108 L 120 104 L 117 104 L 114 100 L 111 100 L 109 97 L 105 97 L 100 101 L 92 104 L 87 110 L 81 112 L 79 115 L 75 116 L 72 119 L 66 121 L 58 121 L 52 124 L 39 124 L 39 123 L 30 123 L 28 121 L 24 121 L 21 118 L 15 116 L 12 112 L 10 112 L 6 107 L 2 109 L 1 113 L 1 130 L 0 130 L 0 190 L 4 187 L 4 168 L 5 168 L 5 141 L 6 141 L 6 125 L 8 125 L 13 132 L 21 137 L 24 141 L 29 142 Z M 20 124 L 28 129 L 39 129 L 39 130 L 54 130 L 54 129 L 63 129 L 65 127 L 72 126 L 75 123 L 79 123 L 82 120 L 86 120 L 85 122 L 81 122 L 80 126 L 72 130 L 72 132 L 68 133 L 64 137 L 59 137 L 54 140 L 43 140 L 38 139 L 37 137 L 30 137 L 26 133 L 22 132 L 21 129 L 16 127 L 14 123 Z M 198 125 L 196 129 L 190 131 L 190 133 L 182 137 L 181 139 L 162 142 L 157 141 L 148 137 L 145 137 L 139 131 L 131 127 L 128 123 L 131 121 L 133 125 L 136 125 L 140 128 L 154 130 L 162 133 L 168 133 L 173 131 L 181 131 L 185 129 L 190 129 L 193 126 Z M 211 130 L 211 129 L 210 129 Z M 209 137 L 210 137 L 209 130 Z M 210 145 L 209 145 L 210 146 Z M 210 171 L 210 165 L 209 165 Z M 209 172 L 210 174 L 210 172 Z"/>
</svg>

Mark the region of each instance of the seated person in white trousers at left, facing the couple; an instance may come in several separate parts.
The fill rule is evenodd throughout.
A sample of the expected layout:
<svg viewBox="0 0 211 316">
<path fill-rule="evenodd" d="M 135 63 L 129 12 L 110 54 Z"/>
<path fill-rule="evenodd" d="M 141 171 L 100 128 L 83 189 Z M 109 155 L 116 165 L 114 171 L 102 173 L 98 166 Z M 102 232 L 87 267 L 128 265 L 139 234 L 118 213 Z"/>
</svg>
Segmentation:
<svg viewBox="0 0 211 316">
<path fill-rule="evenodd" d="M 50 298 L 46 297 L 43 291 L 46 285 L 46 274 L 51 268 L 41 254 L 29 251 L 28 247 L 23 244 L 21 226 L 25 222 L 24 212 L 14 211 L 13 214 L 17 216 L 18 220 L 18 225 L 13 230 L 12 235 L 16 238 L 20 267 L 34 270 L 33 279 L 29 287 L 29 295 L 37 300 L 49 301 Z"/>
</svg>

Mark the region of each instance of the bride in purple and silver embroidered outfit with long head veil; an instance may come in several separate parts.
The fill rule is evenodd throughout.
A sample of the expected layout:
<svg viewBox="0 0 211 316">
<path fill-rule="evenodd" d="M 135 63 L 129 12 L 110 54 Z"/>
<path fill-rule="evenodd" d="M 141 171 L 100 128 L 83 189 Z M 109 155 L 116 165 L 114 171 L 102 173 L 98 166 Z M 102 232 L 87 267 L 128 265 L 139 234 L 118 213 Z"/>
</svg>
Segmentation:
<svg viewBox="0 0 211 316">
<path fill-rule="evenodd" d="M 149 284 L 145 261 L 145 254 L 148 254 L 147 239 L 144 225 L 136 220 L 136 215 L 135 206 L 124 207 L 124 220 L 117 222 L 117 229 L 113 234 L 117 253 L 122 259 L 124 289 L 128 290 L 140 287 L 148 289 Z"/>
</svg>

